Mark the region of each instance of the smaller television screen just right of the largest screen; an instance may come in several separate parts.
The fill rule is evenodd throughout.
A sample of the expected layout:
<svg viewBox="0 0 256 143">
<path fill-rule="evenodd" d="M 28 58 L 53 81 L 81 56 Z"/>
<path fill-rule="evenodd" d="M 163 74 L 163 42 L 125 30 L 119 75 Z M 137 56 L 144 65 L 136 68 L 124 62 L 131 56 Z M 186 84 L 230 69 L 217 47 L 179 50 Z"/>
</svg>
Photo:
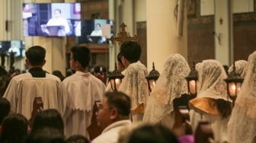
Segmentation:
<svg viewBox="0 0 256 143">
<path fill-rule="evenodd" d="M 114 35 L 114 21 L 108 19 L 82 20 L 81 28 L 78 43 L 109 43 Z"/>
</svg>

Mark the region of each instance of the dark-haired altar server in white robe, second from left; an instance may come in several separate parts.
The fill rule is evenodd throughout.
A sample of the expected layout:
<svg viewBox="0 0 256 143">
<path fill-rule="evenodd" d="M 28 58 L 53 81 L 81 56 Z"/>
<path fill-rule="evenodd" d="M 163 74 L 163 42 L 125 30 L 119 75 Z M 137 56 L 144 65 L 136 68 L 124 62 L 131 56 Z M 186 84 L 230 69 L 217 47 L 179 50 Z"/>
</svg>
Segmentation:
<svg viewBox="0 0 256 143">
<path fill-rule="evenodd" d="M 72 47 L 69 64 L 75 74 L 62 81 L 69 93 L 64 118 L 66 137 L 84 135 L 89 138 L 87 128 L 91 125 L 94 102 L 101 101 L 104 95 L 104 83 L 89 72 L 90 61 L 91 52 L 88 47 Z"/>
</svg>

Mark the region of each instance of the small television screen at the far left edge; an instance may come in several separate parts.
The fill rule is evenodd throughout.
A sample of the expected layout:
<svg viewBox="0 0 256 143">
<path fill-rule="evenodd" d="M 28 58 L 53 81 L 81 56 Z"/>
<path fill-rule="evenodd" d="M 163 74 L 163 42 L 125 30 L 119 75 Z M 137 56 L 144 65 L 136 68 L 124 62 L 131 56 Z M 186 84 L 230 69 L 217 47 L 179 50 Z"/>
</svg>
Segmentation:
<svg viewBox="0 0 256 143">
<path fill-rule="evenodd" d="M 21 40 L 0 41 L 0 53 L 10 56 L 14 52 L 14 57 L 24 57 L 24 46 L 24 41 Z"/>
</svg>

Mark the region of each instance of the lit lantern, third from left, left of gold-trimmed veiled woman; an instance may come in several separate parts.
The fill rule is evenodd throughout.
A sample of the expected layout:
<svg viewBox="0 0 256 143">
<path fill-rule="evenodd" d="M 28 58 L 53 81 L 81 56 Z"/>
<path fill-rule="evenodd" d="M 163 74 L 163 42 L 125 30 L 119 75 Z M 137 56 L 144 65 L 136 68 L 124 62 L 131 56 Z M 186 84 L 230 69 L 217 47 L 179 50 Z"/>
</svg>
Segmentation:
<svg viewBox="0 0 256 143">
<path fill-rule="evenodd" d="M 189 75 L 187 75 L 186 80 L 188 94 L 197 96 L 198 71 L 195 68 L 195 62 L 193 62 L 193 68 L 190 71 Z"/>
</svg>

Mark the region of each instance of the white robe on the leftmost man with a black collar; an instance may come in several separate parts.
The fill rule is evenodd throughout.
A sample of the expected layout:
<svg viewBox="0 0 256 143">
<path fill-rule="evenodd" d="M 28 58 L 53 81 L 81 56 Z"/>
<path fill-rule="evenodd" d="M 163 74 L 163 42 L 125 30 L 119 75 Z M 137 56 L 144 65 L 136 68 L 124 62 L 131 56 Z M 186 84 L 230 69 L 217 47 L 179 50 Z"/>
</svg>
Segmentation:
<svg viewBox="0 0 256 143">
<path fill-rule="evenodd" d="M 11 111 L 30 119 L 34 97 L 42 97 L 43 109 L 56 109 L 63 115 L 66 110 L 66 91 L 59 78 L 46 74 L 45 78 L 34 78 L 30 73 L 11 79 L 4 97 L 11 103 Z"/>
</svg>

